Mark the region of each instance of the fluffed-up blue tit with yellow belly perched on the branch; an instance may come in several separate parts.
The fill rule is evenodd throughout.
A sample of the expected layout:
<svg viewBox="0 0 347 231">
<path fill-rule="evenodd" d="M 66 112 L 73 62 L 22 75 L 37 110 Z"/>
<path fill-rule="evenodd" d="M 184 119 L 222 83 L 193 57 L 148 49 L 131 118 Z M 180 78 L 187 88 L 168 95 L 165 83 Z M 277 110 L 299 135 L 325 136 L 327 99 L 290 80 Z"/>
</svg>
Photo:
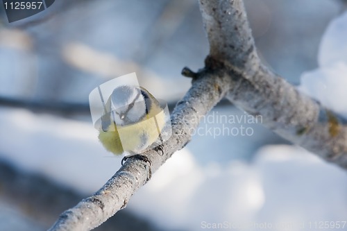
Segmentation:
<svg viewBox="0 0 347 231">
<path fill-rule="evenodd" d="M 99 139 L 106 150 L 121 155 L 142 153 L 164 128 L 160 103 L 143 87 L 122 85 L 105 103 L 99 126 Z"/>
</svg>

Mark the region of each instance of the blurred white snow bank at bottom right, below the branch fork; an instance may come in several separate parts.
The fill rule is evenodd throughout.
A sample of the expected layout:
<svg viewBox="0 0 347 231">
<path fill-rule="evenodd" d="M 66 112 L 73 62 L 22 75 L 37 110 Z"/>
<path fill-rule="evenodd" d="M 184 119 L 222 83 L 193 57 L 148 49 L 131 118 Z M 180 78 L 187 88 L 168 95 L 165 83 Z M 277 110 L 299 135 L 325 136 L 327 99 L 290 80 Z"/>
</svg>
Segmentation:
<svg viewBox="0 0 347 231">
<path fill-rule="evenodd" d="M 196 163 L 189 150 L 176 153 L 128 207 L 175 230 L 201 230 L 204 222 L 308 227 L 347 217 L 346 173 L 302 148 L 264 146 L 252 164 Z"/>
</svg>

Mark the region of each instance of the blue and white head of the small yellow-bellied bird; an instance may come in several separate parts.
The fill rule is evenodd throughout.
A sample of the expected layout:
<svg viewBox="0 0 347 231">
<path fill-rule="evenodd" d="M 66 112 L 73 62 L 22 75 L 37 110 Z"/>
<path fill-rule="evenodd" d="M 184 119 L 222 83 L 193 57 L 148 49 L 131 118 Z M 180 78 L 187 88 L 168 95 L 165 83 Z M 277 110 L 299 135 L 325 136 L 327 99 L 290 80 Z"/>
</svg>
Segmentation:
<svg viewBox="0 0 347 231">
<path fill-rule="evenodd" d="M 123 85 L 111 94 L 112 117 L 119 126 L 137 123 L 146 116 L 146 101 L 139 87 Z"/>
</svg>

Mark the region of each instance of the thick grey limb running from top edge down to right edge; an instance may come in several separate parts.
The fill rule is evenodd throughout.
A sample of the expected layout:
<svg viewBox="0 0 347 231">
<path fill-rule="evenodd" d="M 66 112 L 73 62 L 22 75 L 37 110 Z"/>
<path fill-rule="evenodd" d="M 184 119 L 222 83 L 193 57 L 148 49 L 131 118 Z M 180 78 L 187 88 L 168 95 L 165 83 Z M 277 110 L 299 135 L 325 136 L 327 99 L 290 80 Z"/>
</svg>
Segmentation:
<svg viewBox="0 0 347 231">
<path fill-rule="evenodd" d="M 346 120 L 262 65 L 242 0 L 200 0 L 200 8 L 210 41 L 206 68 L 230 76 L 227 98 L 285 139 L 347 168 Z"/>
</svg>

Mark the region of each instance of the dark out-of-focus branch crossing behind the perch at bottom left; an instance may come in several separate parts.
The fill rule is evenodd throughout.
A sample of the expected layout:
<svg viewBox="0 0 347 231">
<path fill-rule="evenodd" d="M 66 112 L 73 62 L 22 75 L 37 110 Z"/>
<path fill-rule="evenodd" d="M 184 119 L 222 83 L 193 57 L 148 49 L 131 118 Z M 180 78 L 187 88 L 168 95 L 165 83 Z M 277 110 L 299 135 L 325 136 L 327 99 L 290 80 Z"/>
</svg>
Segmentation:
<svg viewBox="0 0 347 231">
<path fill-rule="evenodd" d="M 46 230 L 63 209 L 76 205 L 85 195 L 62 187 L 38 173 L 31 173 L 0 158 L 0 200 L 15 207 Z M 20 189 L 20 190 L 19 190 Z M 2 221 L 1 221 L 2 222 Z M 38 228 L 38 227 L 37 227 Z M 96 230 L 158 230 L 144 218 L 123 210 Z"/>
</svg>

